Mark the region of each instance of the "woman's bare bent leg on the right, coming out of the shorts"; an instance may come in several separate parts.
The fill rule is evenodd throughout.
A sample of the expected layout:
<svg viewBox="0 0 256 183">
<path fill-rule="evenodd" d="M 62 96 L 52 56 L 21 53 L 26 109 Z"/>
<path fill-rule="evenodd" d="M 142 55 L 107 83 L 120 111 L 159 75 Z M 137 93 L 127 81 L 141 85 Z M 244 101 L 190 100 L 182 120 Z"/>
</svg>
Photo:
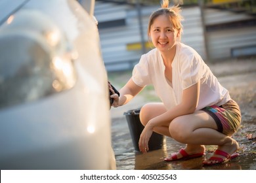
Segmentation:
<svg viewBox="0 0 256 183">
<path fill-rule="evenodd" d="M 213 118 L 201 110 L 175 118 L 169 125 L 169 133 L 178 142 L 188 144 L 185 148 L 188 154 L 192 152 L 193 145 L 217 145 L 219 150 L 233 154 L 238 150 L 238 142 L 231 137 L 217 131 L 217 124 Z M 181 154 L 177 154 L 179 159 Z M 215 155 L 223 158 L 223 156 Z M 212 163 L 215 163 L 214 161 Z"/>
</svg>

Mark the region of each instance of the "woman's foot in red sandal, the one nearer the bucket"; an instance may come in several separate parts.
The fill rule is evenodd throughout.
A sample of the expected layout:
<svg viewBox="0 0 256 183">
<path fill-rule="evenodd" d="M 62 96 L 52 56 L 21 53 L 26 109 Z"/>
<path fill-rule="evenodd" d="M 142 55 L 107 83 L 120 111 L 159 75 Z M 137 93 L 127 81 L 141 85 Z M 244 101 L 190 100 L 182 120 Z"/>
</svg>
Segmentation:
<svg viewBox="0 0 256 183">
<path fill-rule="evenodd" d="M 201 145 L 190 145 L 188 144 L 186 148 L 181 148 L 179 152 L 171 154 L 168 158 L 165 158 L 165 161 L 175 161 L 179 159 L 192 159 L 202 157 L 205 152 L 205 146 Z"/>
</svg>

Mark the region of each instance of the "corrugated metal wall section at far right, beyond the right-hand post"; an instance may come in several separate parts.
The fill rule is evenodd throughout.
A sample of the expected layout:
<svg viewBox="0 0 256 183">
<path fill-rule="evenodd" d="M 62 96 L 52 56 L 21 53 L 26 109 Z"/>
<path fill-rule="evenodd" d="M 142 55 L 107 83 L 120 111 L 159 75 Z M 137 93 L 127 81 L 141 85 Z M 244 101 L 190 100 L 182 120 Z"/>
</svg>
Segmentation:
<svg viewBox="0 0 256 183">
<path fill-rule="evenodd" d="M 242 22 L 253 20 L 255 17 L 249 14 L 236 13 L 228 10 L 206 9 L 205 25 L 228 24 L 229 22 Z M 242 25 L 232 28 L 224 27 L 208 31 L 207 42 L 209 59 L 226 59 L 235 56 L 246 56 L 256 54 L 256 25 Z M 246 47 L 247 53 L 243 52 Z M 232 54 L 232 50 L 240 50 L 240 54 Z"/>
</svg>

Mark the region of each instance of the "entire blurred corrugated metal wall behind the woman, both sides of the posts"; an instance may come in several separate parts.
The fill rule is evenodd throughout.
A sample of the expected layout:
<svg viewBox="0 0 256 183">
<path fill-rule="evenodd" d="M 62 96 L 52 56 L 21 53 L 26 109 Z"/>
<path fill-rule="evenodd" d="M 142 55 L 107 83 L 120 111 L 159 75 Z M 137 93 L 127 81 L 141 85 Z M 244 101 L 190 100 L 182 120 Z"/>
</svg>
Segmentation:
<svg viewBox="0 0 256 183">
<path fill-rule="evenodd" d="M 148 41 L 147 28 L 150 14 L 160 8 L 142 7 L 142 28 L 144 41 Z M 225 24 L 226 22 L 242 21 L 253 18 L 246 14 L 236 14 L 227 10 L 207 8 L 204 10 L 205 26 Z M 200 7 L 183 7 L 184 33 L 182 42 L 192 46 L 203 59 L 206 59 L 205 37 L 203 35 Z M 129 5 L 101 3 L 96 1 L 95 17 L 99 25 L 108 21 L 122 20 L 125 24 L 117 23 L 114 27 L 99 29 L 102 56 L 107 71 L 121 71 L 131 69 L 139 61 L 142 50 L 129 50 L 127 45 L 139 43 L 140 27 L 137 9 Z M 99 26 L 100 27 L 100 26 Z M 232 50 L 241 46 L 256 45 L 256 25 L 250 27 L 236 27 L 236 29 L 216 29 L 207 31 L 208 60 L 230 58 Z M 148 51 L 148 50 L 147 50 Z"/>
</svg>

